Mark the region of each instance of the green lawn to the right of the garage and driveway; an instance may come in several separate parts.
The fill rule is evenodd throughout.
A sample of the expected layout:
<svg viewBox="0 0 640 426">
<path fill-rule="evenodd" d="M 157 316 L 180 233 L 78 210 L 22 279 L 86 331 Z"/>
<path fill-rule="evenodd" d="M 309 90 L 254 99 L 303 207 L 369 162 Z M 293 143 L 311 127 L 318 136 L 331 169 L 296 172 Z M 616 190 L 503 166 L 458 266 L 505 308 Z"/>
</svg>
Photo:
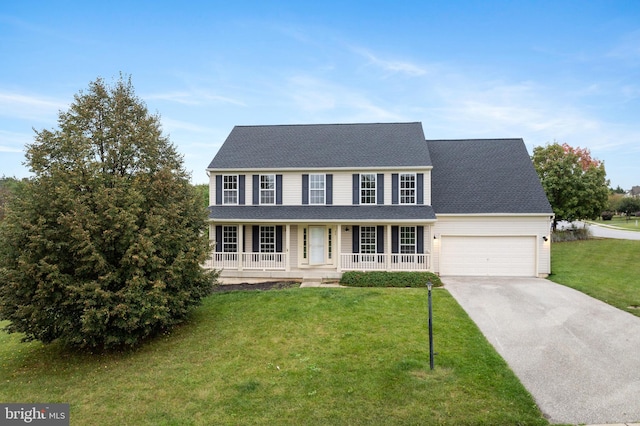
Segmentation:
<svg viewBox="0 0 640 426">
<path fill-rule="evenodd" d="M 551 281 L 640 316 L 640 241 L 552 244 L 551 272 Z"/>
</svg>

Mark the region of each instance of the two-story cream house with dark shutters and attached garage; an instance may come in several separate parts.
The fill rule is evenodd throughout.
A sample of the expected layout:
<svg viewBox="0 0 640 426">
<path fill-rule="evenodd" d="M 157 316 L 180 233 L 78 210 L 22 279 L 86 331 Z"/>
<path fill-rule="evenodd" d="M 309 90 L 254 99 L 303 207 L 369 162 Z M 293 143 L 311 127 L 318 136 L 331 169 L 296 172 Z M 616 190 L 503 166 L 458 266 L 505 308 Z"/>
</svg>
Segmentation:
<svg viewBox="0 0 640 426">
<path fill-rule="evenodd" d="M 427 141 L 421 123 L 236 126 L 209 164 L 207 266 L 545 276 L 552 210 L 522 139 Z"/>
</svg>

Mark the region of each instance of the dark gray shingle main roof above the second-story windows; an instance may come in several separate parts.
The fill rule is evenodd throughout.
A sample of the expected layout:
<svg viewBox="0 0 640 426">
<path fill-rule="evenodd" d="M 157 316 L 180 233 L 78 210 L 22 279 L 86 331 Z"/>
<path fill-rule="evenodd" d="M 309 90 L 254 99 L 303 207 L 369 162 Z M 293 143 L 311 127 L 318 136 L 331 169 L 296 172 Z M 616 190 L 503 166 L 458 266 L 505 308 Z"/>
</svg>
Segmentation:
<svg viewBox="0 0 640 426">
<path fill-rule="evenodd" d="M 421 123 L 236 126 L 209 169 L 431 166 Z"/>
</svg>

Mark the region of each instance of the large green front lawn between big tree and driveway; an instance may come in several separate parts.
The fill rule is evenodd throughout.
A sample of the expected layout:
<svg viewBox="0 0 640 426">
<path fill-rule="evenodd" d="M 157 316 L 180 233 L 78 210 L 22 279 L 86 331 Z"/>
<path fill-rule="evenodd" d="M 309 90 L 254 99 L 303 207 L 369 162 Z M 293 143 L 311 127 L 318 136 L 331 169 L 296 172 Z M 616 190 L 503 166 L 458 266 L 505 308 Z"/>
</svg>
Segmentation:
<svg viewBox="0 0 640 426">
<path fill-rule="evenodd" d="M 543 425 L 446 290 L 216 293 L 189 323 L 90 356 L 0 333 L 0 401 L 69 402 L 71 424 Z"/>
</svg>

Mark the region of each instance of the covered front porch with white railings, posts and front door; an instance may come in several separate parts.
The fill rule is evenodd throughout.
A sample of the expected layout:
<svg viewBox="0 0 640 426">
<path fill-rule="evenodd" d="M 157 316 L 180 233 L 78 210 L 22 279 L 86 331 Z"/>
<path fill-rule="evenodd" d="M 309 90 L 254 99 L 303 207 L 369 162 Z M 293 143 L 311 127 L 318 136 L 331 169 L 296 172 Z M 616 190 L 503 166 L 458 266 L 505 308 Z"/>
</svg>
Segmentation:
<svg viewBox="0 0 640 426">
<path fill-rule="evenodd" d="M 431 270 L 430 226 L 225 224 L 214 225 L 212 235 L 216 249 L 204 267 L 226 279 L 337 280 L 346 271 Z"/>
</svg>

